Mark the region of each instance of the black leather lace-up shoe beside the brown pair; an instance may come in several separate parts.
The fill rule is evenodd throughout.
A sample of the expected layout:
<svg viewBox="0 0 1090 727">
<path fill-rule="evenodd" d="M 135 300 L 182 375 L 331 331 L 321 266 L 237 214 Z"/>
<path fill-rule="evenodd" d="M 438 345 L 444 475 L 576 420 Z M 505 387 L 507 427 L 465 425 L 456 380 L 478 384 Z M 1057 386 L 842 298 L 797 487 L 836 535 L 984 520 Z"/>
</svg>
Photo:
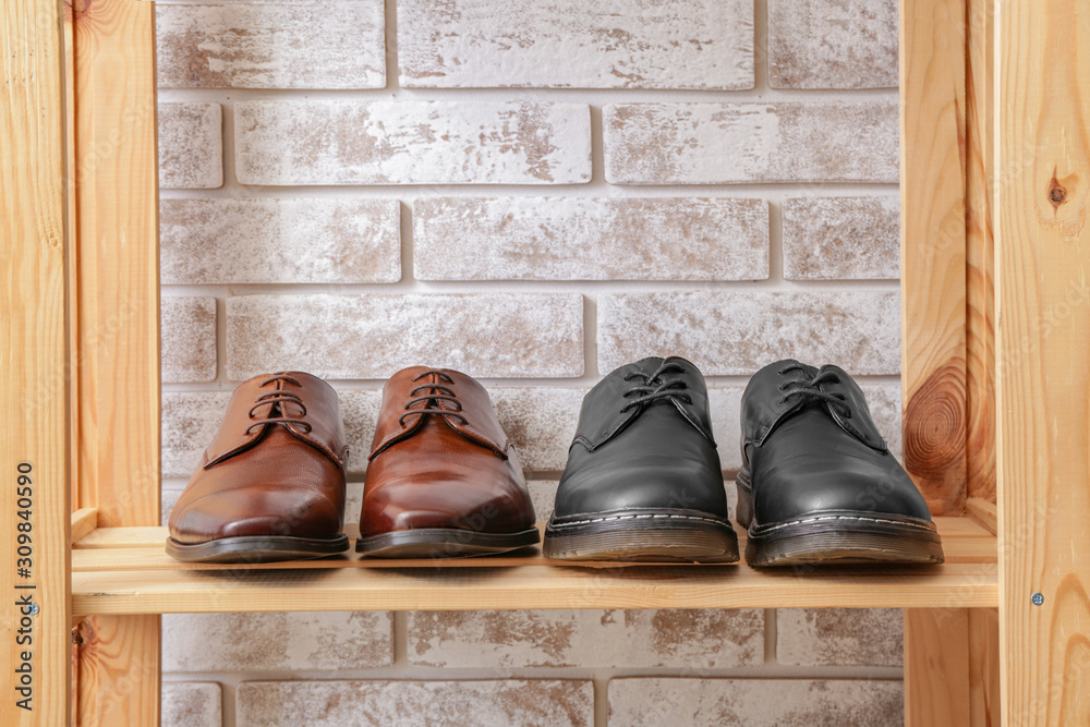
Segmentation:
<svg viewBox="0 0 1090 727">
<path fill-rule="evenodd" d="M 565 560 L 738 559 L 694 365 L 644 359 L 583 398 L 544 550 Z"/>
</svg>

